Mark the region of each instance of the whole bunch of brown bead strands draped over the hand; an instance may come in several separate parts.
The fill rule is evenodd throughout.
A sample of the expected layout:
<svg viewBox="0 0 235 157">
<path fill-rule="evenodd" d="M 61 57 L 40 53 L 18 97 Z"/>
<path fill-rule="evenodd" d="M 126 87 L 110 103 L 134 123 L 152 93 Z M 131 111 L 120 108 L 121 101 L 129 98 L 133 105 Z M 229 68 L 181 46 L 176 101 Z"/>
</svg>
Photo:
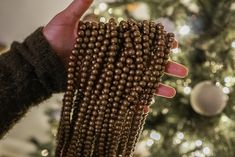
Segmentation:
<svg viewBox="0 0 235 157">
<path fill-rule="evenodd" d="M 55 156 L 132 156 L 173 41 L 151 21 L 80 21 Z"/>
</svg>

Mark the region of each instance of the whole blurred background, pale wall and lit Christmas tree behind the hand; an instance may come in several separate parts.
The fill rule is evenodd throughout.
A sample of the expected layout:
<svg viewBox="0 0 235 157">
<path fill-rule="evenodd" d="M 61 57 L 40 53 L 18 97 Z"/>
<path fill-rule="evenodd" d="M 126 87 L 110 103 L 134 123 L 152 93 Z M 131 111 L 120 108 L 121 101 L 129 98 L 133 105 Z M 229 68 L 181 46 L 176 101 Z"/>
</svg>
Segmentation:
<svg viewBox="0 0 235 157">
<path fill-rule="evenodd" d="M 43 26 L 71 0 L 1 0 L 0 51 Z M 156 97 L 135 157 L 235 156 L 235 1 L 96 0 L 84 19 L 162 22 L 179 48 L 171 59 L 189 76 L 163 77 L 177 89 Z M 32 108 L 0 141 L 0 157 L 53 157 L 62 93 Z"/>
</svg>

